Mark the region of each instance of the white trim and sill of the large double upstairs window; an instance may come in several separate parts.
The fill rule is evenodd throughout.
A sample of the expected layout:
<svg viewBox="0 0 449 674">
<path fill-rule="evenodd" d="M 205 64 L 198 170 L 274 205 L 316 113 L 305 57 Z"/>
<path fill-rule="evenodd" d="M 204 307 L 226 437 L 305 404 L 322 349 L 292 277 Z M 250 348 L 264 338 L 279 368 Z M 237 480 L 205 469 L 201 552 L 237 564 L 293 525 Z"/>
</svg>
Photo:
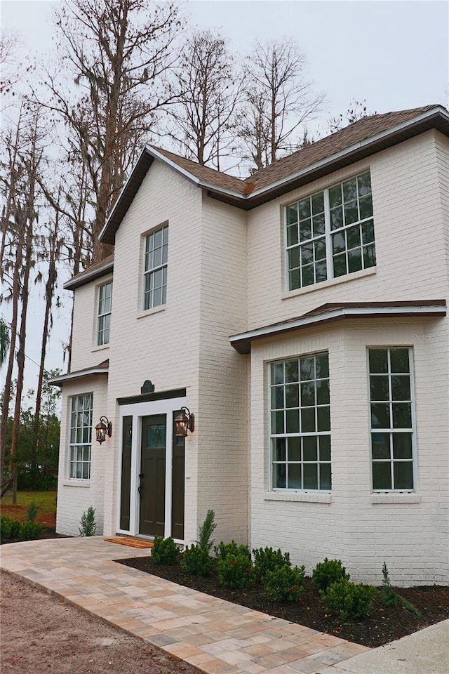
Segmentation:
<svg viewBox="0 0 449 674">
<path fill-rule="evenodd" d="M 332 187 L 335 187 L 335 185 L 341 185 L 342 183 L 347 182 L 347 180 L 351 180 L 351 178 L 356 178 L 357 176 L 363 175 L 363 173 L 371 173 L 370 172 L 370 167 L 366 167 L 365 169 L 358 169 L 354 175 L 351 176 L 345 176 L 344 178 L 341 178 L 340 180 L 337 180 L 336 182 L 330 183 L 327 187 L 321 187 L 320 190 L 316 190 L 314 192 L 311 192 L 310 194 L 304 194 L 301 197 L 297 197 L 294 201 L 288 201 L 285 204 L 283 204 L 282 209 L 283 209 L 283 271 L 284 271 L 284 279 L 283 279 L 283 299 L 288 298 L 288 297 L 293 297 L 297 294 L 302 294 L 305 292 L 310 292 L 315 289 L 323 289 L 326 288 L 328 285 L 333 285 L 338 282 L 344 282 L 344 281 L 349 281 L 352 279 L 360 278 L 361 275 L 370 275 L 372 273 L 375 273 L 376 265 L 377 265 L 377 250 L 376 250 L 376 240 L 374 238 L 373 244 L 375 246 L 375 255 L 376 255 L 376 263 L 372 267 L 363 267 L 363 269 L 358 270 L 356 272 L 347 272 L 347 274 L 344 274 L 342 276 L 337 276 L 334 277 L 333 275 L 333 252 L 332 252 L 332 235 L 341 231 L 344 232 L 348 227 L 351 227 L 351 225 L 347 225 L 344 227 L 340 227 L 339 230 L 332 230 L 330 227 L 330 201 L 329 201 L 329 190 Z M 313 284 L 310 284 L 309 286 L 300 286 L 300 288 L 295 288 L 290 290 L 290 281 L 289 281 L 289 276 L 288 276 L 288 251 L 292 249 L 295 246 L 290 246 L 288 247 L 288 240 L 287 240 L 287 209 L 288 206 L 291 204 L 295 204 L 295 202 L 302 201 L 302 199 L 307 199 L 307 197 L 314 197 L 315 194 L 320 194 L 323 192 L 323 199 L 324 199 L 324 239 L 326 241 L 326 272 L 327 272 L 327 279 L 319 282 L 315 282 Z M 373 206 L 373 184 L 371 183 L 371 204 Z M 373 206 L 374 210 L 374 206 Z M 373 220 L 374 223 L 374 212 L 373 216 L 370 216 L 370 218 L 364 218 L 363 220 L 358 220 L 358 224 L 363 223 L 364 221 L 368 220 Z M 356 223 L 353 223 L 354 225 Z M 314 241 L 315 239 L 311 239 L 311 241 Z M 297 245 L 297 244 L 295 244 Z M 363 246 L 362 246 L 363 249 Z M 362 253 L 363 254 L 363 253 Z M 367 273 L 368 272 L 368 273 Z"/>
</svg>

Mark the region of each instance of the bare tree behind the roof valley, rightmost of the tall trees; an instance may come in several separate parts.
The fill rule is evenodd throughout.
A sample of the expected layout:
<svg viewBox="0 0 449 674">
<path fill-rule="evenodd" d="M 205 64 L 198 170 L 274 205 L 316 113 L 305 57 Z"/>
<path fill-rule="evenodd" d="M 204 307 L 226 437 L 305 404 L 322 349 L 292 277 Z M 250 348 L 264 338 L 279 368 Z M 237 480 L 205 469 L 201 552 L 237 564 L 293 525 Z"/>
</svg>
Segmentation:
<svg viewBox="0 0 449 674">
<path fill-rule="evenodd" d="M 300 127 L 319 112 L 324 96 L 304 79 L 305 58 L 291 39 L 256 42 L 247 60 L 246 104 L 239 136 L 256 169 L 299 149 Z"/>
</svg>

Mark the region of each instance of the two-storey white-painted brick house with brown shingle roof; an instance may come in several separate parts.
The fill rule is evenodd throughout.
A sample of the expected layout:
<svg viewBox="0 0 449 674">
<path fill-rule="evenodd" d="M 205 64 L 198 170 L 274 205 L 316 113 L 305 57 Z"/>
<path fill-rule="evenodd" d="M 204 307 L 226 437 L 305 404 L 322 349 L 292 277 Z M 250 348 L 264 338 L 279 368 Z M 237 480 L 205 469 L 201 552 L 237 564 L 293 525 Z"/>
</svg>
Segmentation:
<svg viewBox="0 0 449 674">
<path fill-rule="evenodd" d="M 309 572 L 449 583 L 448 136 L 440 106 L 375 115 L 247 180 L 145 147 L 114 256 L 66 284 L 59 532 L 93 505 L 191 543 L 213 508 Z"/>
</svg>

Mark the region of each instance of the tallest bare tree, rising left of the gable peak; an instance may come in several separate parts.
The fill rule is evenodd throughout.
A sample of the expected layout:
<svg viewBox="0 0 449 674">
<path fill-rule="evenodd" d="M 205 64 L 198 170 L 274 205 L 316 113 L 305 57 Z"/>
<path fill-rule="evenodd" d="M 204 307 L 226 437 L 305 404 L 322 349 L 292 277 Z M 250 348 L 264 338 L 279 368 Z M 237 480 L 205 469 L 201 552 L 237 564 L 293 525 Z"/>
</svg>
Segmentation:
<svg viewBox="0 0 449 674">
<path fill-rule="evenodd" d="M 57 27 L 64 70 L 43 73 L 50 92 L 45 105 L 64 121 L 70 159 L 86 169 L 95 262 L 110 252 L 98 233 L 136 149 L 173 100 L 166 74 L 180 20 L 170 2 L 65 0 Z"/>
</svg>

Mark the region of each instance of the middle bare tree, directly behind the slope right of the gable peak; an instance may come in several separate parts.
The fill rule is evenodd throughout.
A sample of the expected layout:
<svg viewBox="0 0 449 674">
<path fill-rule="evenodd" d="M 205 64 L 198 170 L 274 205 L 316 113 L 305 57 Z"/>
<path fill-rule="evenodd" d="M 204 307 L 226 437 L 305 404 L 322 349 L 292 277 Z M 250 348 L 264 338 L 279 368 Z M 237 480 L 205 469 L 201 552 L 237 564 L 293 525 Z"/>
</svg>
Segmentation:
<svg viewBox="0 0 449 674">
<path fill-rule="evenodd" d="M 210 30 L 191 34 L 173 79 L 177 104 L 168 109 L 167 135 L 187 159 L 220 170 L 220 159 L 235 149 L 234 117 L 241 93 L 226 40 Z"/>
</svg>

